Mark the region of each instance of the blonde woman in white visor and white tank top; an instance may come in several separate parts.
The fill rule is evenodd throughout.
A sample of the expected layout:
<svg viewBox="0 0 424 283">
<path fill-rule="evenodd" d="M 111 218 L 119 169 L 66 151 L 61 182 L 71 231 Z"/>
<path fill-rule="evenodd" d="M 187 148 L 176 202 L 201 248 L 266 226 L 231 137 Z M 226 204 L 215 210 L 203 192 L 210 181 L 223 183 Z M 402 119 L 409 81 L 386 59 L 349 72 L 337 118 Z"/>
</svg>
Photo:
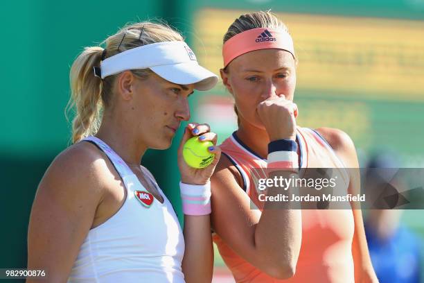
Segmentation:
<svg viewBox="0 0 424 283">
<path fill-rule="evenodd" d="M 210 166 L 193 169 L 182 160 L 182 144 L 194 135 L 215 144 L 216 135 L 189 123 L 179 146 L 184 237 L 140 162 L 148 148 L 170 147 L 190 118 L 188 96 L 218 78 L 163 24 L 132 24 L 103 43 L 85 48 L 71 67 L 73 145 L 37 189 L 28 269 L 44 270 L 46 282 L 211 282 L 209 178 L 220 148 L 209 148 Z"/>
</svg>

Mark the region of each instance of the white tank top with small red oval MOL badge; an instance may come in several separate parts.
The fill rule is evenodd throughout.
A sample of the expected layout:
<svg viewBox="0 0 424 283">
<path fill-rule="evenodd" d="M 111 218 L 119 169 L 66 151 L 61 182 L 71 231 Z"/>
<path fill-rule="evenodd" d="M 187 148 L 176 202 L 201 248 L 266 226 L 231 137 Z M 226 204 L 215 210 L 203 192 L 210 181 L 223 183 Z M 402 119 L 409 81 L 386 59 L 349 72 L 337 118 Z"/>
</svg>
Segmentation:
<svg viewBox="0 0 424 283">
<path fill-rule="evenodd" d="M 121 175 L 127 197 L 114 216 L 89 230 L 68 282 L 184 282 L 184 237 L 163 191 L 152 180 L 164 198 L 162 204 L 112 148 L 96 137 L 84 140 L 106 153 Z"/>
</svg>

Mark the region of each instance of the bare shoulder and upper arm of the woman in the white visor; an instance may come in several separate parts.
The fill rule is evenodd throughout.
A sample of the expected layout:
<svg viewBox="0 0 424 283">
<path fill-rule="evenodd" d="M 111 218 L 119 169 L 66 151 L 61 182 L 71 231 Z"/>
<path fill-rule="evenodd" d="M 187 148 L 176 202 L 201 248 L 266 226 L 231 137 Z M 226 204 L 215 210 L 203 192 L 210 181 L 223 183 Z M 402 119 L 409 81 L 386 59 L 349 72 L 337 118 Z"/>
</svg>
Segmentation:
<svg viewBox="0 0 424 283">
<path fill-rule="evenodd" d="M 65 282 L 71 272 L 102 201 L 106 168 L 103 153 L 81 142 L 60 153 L 39 184 L 28 226 L 28 266 L 49 270 L 51 282 Z"/>
</svg>

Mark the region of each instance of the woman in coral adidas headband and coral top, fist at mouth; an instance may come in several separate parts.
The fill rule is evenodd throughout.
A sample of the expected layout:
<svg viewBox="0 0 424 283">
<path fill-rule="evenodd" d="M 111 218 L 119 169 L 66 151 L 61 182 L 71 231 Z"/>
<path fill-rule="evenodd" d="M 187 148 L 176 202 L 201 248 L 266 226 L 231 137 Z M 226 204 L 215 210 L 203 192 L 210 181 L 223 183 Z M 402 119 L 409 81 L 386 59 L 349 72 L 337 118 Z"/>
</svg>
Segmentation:
<svg viewBox="0 0 424 283">
<path fill-rule="evenodd" d="M 297 58 L 288 29 L 270 12 L 242 15 L 224 35 L 222 55 L 220 74 L 235 100 L 238 129 L 220 145 L 211 221 L 236 282 L 377 282 L 360 209 L 267 209 L 254 185 L 260 178 L 254 169 L 289 177 L 333 168 L 344 176 L 344 189 L 359 186 L 345 169 L 358 167 L 346 133 L 297 126 Z"/>
</svg>

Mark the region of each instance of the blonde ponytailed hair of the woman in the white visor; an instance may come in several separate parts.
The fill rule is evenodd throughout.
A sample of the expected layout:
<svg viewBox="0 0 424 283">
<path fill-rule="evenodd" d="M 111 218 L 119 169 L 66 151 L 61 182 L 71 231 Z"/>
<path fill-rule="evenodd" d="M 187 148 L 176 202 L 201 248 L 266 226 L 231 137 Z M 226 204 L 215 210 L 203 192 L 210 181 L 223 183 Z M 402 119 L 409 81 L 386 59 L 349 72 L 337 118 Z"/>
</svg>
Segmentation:
<svg viewBox="0 0 424 283">
<path fill-rule="evenodd" d="M 118 74 L 107 76 L 103 80 L 94 76 L 93 68 L 100 66 L 100 60 L 145 44 L 183 40 L 182 35 L 167 24 L 139 22 L 125 26 L 107 37 L 100 44 L 105 45 L 105 49 L 100 46 L 85 47 L 73 62 L 69 75 L 71 98 L 67 109 L 75 109 L 72 142 L 76 143 L 98 131 L 103 110 L 112 101 L 112 85 Z M 141 78 L 152 74 L 150 69 L 131 71 Z"/>
</svg>

